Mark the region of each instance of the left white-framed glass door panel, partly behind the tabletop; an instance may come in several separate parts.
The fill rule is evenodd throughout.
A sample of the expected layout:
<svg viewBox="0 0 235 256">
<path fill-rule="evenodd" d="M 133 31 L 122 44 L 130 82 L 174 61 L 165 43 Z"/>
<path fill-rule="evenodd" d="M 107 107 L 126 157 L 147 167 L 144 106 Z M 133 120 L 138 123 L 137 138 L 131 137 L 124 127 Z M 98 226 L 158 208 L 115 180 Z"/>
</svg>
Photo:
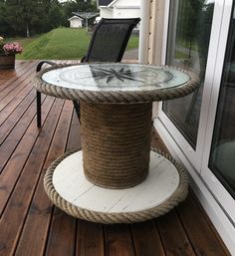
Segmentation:
<svg viewBox="0 0 235 256">
<path fill-rule="evenodd" d="M 224 0 L 169 1 L 164 63 L 196 73 L 201 82 L 191 95 L 164 102 L 159 120 L 198 172 L 201 171 L 223 9 Z"/>
</svg>

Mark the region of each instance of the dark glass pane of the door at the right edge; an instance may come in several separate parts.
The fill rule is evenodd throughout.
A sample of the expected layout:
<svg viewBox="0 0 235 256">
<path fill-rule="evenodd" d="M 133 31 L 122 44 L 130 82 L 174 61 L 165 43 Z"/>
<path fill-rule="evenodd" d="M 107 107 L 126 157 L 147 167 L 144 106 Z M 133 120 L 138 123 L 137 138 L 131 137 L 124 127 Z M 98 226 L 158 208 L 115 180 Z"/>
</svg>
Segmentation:
<svg viewBox="0 0 235 256">
<path fill-rule="evenodd" d="M 235 198 L 235 19 L 231 20 L 209 168 Z"/>
</svg>

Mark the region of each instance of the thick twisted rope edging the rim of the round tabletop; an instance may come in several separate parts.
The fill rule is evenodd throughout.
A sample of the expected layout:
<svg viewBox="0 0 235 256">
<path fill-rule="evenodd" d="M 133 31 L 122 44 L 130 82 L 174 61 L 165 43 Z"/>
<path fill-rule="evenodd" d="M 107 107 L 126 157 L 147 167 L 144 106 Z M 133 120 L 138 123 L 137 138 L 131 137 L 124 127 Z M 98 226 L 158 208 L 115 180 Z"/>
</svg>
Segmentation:
<svg viewBox="0 0 235 256">
<path fill-rule="evenodd" d="M 86 65 L 86 64 L 80 64 Z M 46 95 L 55 96 L 62 99 L 81 101 L 88 103 L 137 103 L 137 102 L 154 102 L 154 101 L 165 101 L 180 98 L 191 94 L 199 86 L 199 77 L 190 72 L 180 70 L 179 68 L 169 67 L 170 69 L 175 69 L 187 74 L 190 80 L 180 86 L 170 89 L 162 90 L 151 90 L 151 91 L 128 91 L 128 92 L 92 92 L 86 90 L 77 90 L 63 88 L 55 86 L 53 84 L 46 83 L 42 80 L 44 73 L 63 67 L 68 67 L 72 65 L 55 65 L 51 68 L 47 68 L 37 73 L 34 79 L 35 88 Z"/>
</svg>

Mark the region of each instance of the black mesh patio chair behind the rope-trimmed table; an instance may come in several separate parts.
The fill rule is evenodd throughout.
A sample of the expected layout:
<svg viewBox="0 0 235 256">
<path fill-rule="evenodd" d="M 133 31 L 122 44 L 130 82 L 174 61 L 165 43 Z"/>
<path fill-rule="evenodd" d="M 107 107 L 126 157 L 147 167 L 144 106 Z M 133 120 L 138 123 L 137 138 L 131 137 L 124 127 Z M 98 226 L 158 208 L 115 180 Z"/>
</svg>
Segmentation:
<svg viewBox="0 0 235 256">
<path fill-rule="evenodd" d="M 140 21 L 139 18 L 102 19 L 92 35 L 88 52 L 81 62 L 120 62 L 124 54 L 132 29 Z M 42 61 L 37 72 L 44 64 L 55 65 L 53 62 Z M 79 102 L 73 102 L 80 119 Z M 41 93 L 37 91 L 37 126 L 41 127 Z"/>
</svg>

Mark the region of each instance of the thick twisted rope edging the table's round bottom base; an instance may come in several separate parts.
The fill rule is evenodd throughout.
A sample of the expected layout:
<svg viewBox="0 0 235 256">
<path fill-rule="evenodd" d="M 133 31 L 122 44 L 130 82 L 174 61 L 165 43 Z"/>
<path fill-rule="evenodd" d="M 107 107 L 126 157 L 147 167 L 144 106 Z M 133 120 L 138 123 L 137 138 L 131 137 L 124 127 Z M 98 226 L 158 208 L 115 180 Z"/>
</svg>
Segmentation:
<svg viewBox="0 0 235 256">
<path fill-rule="evenodd" d="M 104 212 L 97 212 L 92 210 L 83 209 L 80 207 L 75 206 L 74 204 L 68 202 L 63 197 L 61 197 L 58 192 L 56 191 L 52 179 L 53 179 L 53 172 L 57 165 L 65 159 L 70 154 L 74 153 L 77 150 L 72 150 L 70 152 L 66 152 L 62 156 L 60 156 L 58 159 L 56 159 L 48 168 L 45 178 L 44 178 L 44 188 L 49 196 L 49 198 L 52 200 L 52 202 L 61 208 L 63 211 L 67 212 L 68 214 L 85 219 L 88 221 L 98 222 L 98 223 L 130 223 L 130 222 L 139 222 L 139 221 L 145 221 L 148 219 L 152 219 L 155 217 L 158 217 L 162 214 L 165 214 L 170 209 L 172 209 L 174 206 L 176 206 L 179 202 L 183 201 L 186 198 L 187 191 L 188 191 L 188 180 L 187 180 L 187 174 L 184 168 L 175 161 L 169 154 L 166 154 L 164 152 L 158 151 L 154 148 L 151 148 L 153 151 L 158 152 L 159 154 L 166 157 L 168 160 L 170 160 L 174 166 L 177 168 L 179 177 L 180 177 L 180 183 L 176 191 L 168 198 L 167 201 L 161 203 L 159 206 L 142 210 L 138 212 L 117 212 L 117 213 L 104 213 Z"/>
</svg>

